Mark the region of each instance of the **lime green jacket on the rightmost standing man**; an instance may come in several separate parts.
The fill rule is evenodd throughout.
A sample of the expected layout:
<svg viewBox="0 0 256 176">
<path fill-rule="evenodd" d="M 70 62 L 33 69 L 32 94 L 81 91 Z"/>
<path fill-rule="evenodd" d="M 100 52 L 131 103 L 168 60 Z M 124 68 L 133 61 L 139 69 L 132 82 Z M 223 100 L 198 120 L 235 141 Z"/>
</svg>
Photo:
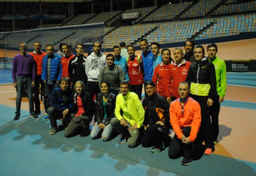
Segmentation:
<svg viewBox="0 0 256 176">
<path fill-rule="evenodd" d="M 209 59 L 209 57 L 208 57 Z M 215 57 L 214 60 L 210 60 L 211 63 L 213 63 L 215 67 L 215 73 L 216 73 L 216 90 L 218 91 L 218 95 L 220 97 L 224 98 L 226 95 L 227 90 L 227 70 L 226 70 L 226 64 L 223 60 L 221 60 L 219 57 Z"/>
</svg>

